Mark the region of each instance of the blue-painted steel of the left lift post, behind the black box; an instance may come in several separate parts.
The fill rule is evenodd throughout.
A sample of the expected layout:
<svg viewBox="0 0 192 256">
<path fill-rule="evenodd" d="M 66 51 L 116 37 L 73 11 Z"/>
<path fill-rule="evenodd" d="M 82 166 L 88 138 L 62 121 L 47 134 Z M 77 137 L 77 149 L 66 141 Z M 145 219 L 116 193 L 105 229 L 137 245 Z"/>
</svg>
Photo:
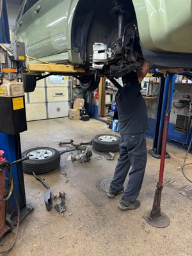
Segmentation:
<svg viewBox="0 0 192 256">
<path fill-rule="evenodd" d="M 1 44 L 10 44 L 10 32 L 8 25 L 8 12 L 6 0 L 3 0 L 1 19 L 0 19 L 0 42 Z M 1 106 L 3 109 L 3 106 Z M 3 120 L 1 120 L 3 122 Z M 21 159 L 20 148 L 20 135 L 10 135 L 0 132 L 0 149 L 4 151 L 4 157 L 12 163 L 18 159 Z M 13 179 L 15 180 L 15 188 L 17 191 L 17 200 L 20 207 L 20 221 L 22 221 L 33 210 L 31 204 L 26 204 L 26 195 L 24 188 L 24 175 L 22 171 L 22 163 L 13 165 L 12 168 Z M 6 173 L 8 175 L 8 173 Z M 11 220 L 17 223 L 17 207 L 15 198 L 12 195 L 8 201 L 7 213 Z"/>
</svg>

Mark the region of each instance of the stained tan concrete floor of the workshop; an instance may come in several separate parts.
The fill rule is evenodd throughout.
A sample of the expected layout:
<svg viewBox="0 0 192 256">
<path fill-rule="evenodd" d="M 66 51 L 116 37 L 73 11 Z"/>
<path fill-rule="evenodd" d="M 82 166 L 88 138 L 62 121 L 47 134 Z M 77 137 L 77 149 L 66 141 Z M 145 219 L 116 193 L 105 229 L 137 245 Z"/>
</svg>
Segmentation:
<svg viewBox="0 0 192 256">
<path fill-rule="evenodd" d="M 21 134 L 22 150 L 39 146 L 60 149 L 58 141 L 88 141 L 94 135 L 108 132 L 113 133 L 97 120 L 81 122 L 60 118 L 29 122 L 28 131 Z M 152 147 L 152 140 L 147 139 L 147 147 Z M 148 155 L 139 197 L 141 207 L 122 212 L 117 207 L 120 195 L 109 200 L 95 186 L 97 180 L 113 175 L 118 154 L 113 161 L 97 161 L 95 157 L 100 153 L 93 152 L 90 163 L 71 163 L 67 161 L 69 153 L 61 157 L 58 170 L 42 175 L 54 195 L 60 190 L 67 193 L 67 211 L 63 218 L 55 209 L 46 211 L 44 187 L 33 176 L 24 175 L 26 197 L 34 211 L 21 223 L 17 244 L 8 255 L 192 255 L 192 201 L 179 195 L 179 189 L 190 183 L 177 170 L 184 161 L 185 151 L 168 145 L 168 152 L 172 159 L 166 160 L 161 205 L 171 219 L 168 228 L 151 227 L 143 219 L 143 213 L 152 207 L 159 160 Z M 191 160 L 189 155 L 188 163 Z M 67 183 L 62 173 L 67 173 Z M 186 173 L 192 179 L 190 168 Z M 4 241 L 11 238 L 13 234 L 6 236 Z"/>
</svg>

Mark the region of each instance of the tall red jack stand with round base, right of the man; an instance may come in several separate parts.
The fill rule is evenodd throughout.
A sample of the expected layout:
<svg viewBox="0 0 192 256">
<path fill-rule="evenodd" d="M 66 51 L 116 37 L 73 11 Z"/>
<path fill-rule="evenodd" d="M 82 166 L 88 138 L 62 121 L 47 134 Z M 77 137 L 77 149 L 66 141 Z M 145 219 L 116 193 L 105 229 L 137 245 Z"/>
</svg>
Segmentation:
<svg viewBox="0 0 192 256">
<path fill-rule="evenodd" d="M 145 221 L 153 227 L 157 228 L 166 228 L 170 225 L 170 218 L 161 211 L 161 195 L 163 190 L 163 176 L 164 176 L 164 161 L 166 156 L 166 141 L 168 137 L 168 125 L 170 122 L 170 102 L 172 98 L 172 78 L 170 75 L 170 83 L 168 90 L 168 102 L 166 114 L 164 117 L 164 128 L 163 128 L 163 140 L 162 140 L 162 149 L 161 149 L 161 164 L 159 171 L 159 182 L 157 182 L 156 195 L 154 197 L 154 204 L 152 211 L 147 211 L 144 214 Z"/>
</svg>

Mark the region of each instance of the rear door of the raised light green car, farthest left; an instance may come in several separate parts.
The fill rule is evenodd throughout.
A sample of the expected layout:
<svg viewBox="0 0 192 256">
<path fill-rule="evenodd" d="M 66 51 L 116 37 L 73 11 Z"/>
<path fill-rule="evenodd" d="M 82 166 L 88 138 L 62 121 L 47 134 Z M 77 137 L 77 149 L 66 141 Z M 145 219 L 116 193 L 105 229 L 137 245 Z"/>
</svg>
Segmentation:
<svg viewBox="0 0 192 256">
<path fill-rule="evenodd" d="M 33 28 L 33 6 L 39 0 L 25 0 L 22 4 L 18 20 L 13 28 L 12 39 L 22 41 L 26 45 L 26 53 L 30 55 L 30 47 L 34 44 L 34 28 Z"/>
</svg>

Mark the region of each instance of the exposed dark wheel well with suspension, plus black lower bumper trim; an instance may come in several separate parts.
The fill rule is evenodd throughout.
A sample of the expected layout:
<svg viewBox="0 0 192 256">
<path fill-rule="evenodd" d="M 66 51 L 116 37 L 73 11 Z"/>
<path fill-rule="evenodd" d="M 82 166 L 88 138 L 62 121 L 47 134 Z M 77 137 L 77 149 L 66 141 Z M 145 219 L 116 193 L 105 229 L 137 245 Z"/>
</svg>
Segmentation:
<svg viewBox="0 0 192 256">
<path fill-rule="evenodd" d="M 150 52 L 143 47 L 134 6 L 127 0 L 79 1 L 74 15 L 72 49 L 80 52 L 86 75 L 94 75 L 95 81 L 99 81 L 100 75 L 118 78 L 141 68 L 146 56 L 148 62 L 152 61 L 151 68 L 176 68 L 176 60 L 180 68 L 189 70 L 191 66 L 191 56 L 186 64 L 180 54 Z M 158 61 L 159 55 L 164 56 L 164 62 Z M 88 83 L 86 76 L 79 79 L 83 84 Z"/>
</svg>

